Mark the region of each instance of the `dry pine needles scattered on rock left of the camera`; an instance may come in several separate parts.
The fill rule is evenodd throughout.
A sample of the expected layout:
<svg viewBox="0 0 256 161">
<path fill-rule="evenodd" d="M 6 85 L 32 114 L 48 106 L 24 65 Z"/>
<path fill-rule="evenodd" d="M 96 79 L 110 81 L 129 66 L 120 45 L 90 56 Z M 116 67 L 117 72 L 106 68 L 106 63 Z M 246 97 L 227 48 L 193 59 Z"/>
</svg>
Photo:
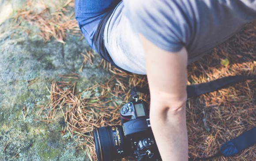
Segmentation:
<svg viewBox="0 0 256 161">
<path fill-rule="evenodd" d="M 66 132 L 70 137 L 77 136 L 72 147 L 89 151 L 93 161 L 97 160 L 92 138 L 93 128 L 120 124 L 120 106 L 128 101 L 129 89 L 132 86 L 147 84 L 145 76 L 127 75 L 119 70 L 109 71 L 117 73 L 105 84 L 97 84 L 93 87 L 76 92 L 75 84 L 66 81 L 52 81 L 50 101 L 46 106 L 38 106 L 38 115 L 45 115 L 39 121 L 51 123 L 56 116 L 56 112 L 63 113 L 67 126 L 61 131 Z M 63 79 L 77 80 L 78 74 L 60 75 Z M 124 83 L 129 79 L 129 84 Z M 143 96 L 148 99 L 147 95 Z M 123 100 L 120 102 L 120 100 Z M 117 103 L 118 102 L 118 103 Z M 46 113 L 47 111 L 47 113 Z"/>
</svg>

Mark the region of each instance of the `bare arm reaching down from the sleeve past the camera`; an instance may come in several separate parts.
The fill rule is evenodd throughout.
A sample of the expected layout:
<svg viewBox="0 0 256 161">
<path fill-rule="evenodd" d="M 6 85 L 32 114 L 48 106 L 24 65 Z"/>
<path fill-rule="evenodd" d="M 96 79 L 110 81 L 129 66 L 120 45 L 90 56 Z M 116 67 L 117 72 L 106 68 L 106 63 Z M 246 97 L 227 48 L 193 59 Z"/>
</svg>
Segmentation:
<svg viewBox="0 0 256 161">
<path fill-rule="evenodd" d="M 151 127 L 163 161 L 188 161 L 187 51 L 164 51 L 141 36 L 151 91 Z"/>
</svg>

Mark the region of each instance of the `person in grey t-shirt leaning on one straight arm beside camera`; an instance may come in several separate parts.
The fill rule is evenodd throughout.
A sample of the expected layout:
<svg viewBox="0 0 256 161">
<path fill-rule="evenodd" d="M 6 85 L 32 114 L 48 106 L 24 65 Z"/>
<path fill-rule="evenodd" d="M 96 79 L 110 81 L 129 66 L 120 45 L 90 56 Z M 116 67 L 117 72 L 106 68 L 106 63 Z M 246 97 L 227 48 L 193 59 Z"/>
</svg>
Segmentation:
<svg viewBox="0 0 256 161">
<path fill-rule="evenodd" d="M 187 64 L 256 20 L 256 0 L 75 0 L 75 18 L 95 51 L 147 74 L 162 160 L 187 161 Z"/>
</svg>

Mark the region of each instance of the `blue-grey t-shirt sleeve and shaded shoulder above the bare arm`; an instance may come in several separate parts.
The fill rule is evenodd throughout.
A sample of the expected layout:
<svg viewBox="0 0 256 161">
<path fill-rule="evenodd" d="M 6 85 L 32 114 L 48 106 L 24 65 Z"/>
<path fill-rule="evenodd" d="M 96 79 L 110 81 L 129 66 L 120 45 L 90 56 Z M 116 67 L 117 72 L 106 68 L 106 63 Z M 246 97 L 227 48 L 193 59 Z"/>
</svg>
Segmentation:
<svg viewBox="0 0 256 161">
<path fill-rule="evenodd" d="M 124 0 L 132 26 L 159 48 L 207 52 L 256 19 L 256 0 Z"/>
</svg>

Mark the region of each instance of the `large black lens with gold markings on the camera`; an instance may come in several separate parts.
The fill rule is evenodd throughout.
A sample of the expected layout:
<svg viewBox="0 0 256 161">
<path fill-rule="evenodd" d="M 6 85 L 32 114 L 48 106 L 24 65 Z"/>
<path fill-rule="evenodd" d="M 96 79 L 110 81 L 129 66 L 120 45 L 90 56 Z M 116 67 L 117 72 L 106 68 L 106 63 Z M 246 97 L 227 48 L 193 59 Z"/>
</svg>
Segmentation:
<svg viewBox="0 0 256 161">
<path fill-rule="evenodd" d="M 124 138 L 120 125 L 95 128 L 93 135 L 98 161 L 120 159 L 131 151 L 131 143 Z"/>
</svg>

